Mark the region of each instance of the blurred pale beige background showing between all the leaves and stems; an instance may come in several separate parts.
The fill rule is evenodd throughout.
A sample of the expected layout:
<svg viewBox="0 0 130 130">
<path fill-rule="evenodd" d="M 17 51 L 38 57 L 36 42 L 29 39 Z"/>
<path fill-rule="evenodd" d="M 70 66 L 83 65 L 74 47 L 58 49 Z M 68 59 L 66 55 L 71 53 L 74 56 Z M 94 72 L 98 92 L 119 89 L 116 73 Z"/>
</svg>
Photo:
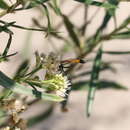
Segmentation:
<svg viewBox="0 0 130 130">
<path fill-rule="evenodd" d="M 61 12 L 68 16 L 73 24 L 80 28 L 84 22 L 84 5 L 76 1 L 63 1 L 60 2 Z M 130 3 L 122 2 L 116 9 L 116 26 L 118 27 L 130 14 Z M 105 9 L 96 6 L 90 6 L 87 9 L 87 19 L 92 21 L 87 26 L 85 37 L 90 37 L 95 33 L 97 28 L 101 25 L 105 15 Z M 1 19 L 4 21 L 16 21 L 17 25 L 24 27 L 37 27 L 35 24 L 38 21 L 41 25 L 46 26 L 46 16 L 41 13 L 40 8 L 34 8 L 30 10 L 17 11 L 12 14 L 7 14 Z M 50 19 L 53 27 L 57 28 L 58 34 L 64 38 L 68 38 L 69 34 L 62 22 L 60 16 L 56 15 L 50 10 Z M 104 30 L 104 34 L 110 33 L 115 28 L 114 18 L 111 18 L 107 27 Z M 74 45 L 68 41 L 65 45 L 65 41 L 55 37 L 45 37 L 45 33 L 37 31 L 26 31 L 18 28 L 11 28 L 14 32 L 12 44 L 9 53 L 18 52 L 13 56 L 9 62 L 2 62 L 0 64 L 0 70 L 12 77 L 16 72 L 21 61 L 26 58 L 30 58 L 32 66 L 34 65 L 34 52 L 49 54 L 55 52 L 60 55 L 62 59 L 76 58 L 79 56 L 77 50 L 73 49 Z M 2 52 L 6 46 L 8 35 L 5 33 L 0 34 L 0 52 Z M 80 41 L 84 41 L 84 37 L 80 35 Z M 129 51 L 130 50 L 129 39 L 114 39 L 109 41 L 103 41 L 103 50 L 105 51 Z M 81 45 L 82 46 L 82 45 Z M 93 59 L 95 57 L 95 51 L 93 50 L 84 59 Z M 109 70 L 103 71 L 100 74 L 100 79 L 108 79 L 110 81 L 118 82 L 129 88 L 130 77 L 130 55 L 108 55 L 103 54 L 103 60 L 106 62 L 115 62 L 113 67 L 116 71 L 111 72 Z M 117 62 L 117 63 L 116 63 Z M 92 63 L 86 63 L 82 66 L 80 71 L 76 71 L 74 75 L 78 75 L 84 72 L 86 69 L 91 69 Z M 73 73 L 72 73 L 73 75 Z M 90 76 L 83 76 L 80 80 L 88 79 Z M 78 82 L 79 79 L 72 82 Z M 77 86 L 78 87 L 78 86 Z M 130 122 L 130 103 L 129 103 L 129 90 L 117 90 L 111 87 L 100 89 L 96 92 L 95 101 L 92 108 L 92 114 L 89 118 L 86 118 L 86 100 L 87 91 L 72 91 L 69 96 L 68 112 L 61 112 L 60 104 L 56 104 L 53 113 L 47 118 L 41 120 L 34 125 L 30 130 L 129 130 Z M 41 103 L 42 102 L 42 103 Z M 33 116 L 36 113 L 40 113 L 47 110 L 48 103 L 40 101 L 31 109 L 23 113 L 24 118 Z"/>
</svg>

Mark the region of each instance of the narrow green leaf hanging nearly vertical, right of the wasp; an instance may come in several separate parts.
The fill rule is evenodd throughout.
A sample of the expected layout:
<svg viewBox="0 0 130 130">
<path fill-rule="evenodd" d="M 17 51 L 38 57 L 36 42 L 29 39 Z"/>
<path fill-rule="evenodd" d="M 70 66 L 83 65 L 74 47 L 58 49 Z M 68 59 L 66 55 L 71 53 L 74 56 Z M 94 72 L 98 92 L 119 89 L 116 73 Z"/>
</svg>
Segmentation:
<svg viewBox="0 0 130 130">
<path fill-rule="evenodd" d="M 99 78 L 99 72 L 101 68 L 101 59 L 102 59 L 102 49 L 100 47 L 94 60 L 89 84 L 88 99 L 87 99 L 87 116 L 90 116 L 92 110 L 92 104 L 94 101 L 95 91 L 97 89 L 97 83 Z"/>
</svg>

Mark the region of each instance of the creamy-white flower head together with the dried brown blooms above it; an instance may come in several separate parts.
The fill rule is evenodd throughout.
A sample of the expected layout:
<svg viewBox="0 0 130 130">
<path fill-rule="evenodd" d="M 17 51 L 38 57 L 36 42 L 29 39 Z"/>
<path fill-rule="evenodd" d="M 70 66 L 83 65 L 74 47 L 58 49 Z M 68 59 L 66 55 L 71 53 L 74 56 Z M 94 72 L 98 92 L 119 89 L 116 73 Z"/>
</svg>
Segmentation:
<svg viewBox="0 0 130 130">
<path fill-rule="evenodd" d="M 41 60 L 43 68 L 46 70 L 43 83 L 46 83 L 48 89 L 55 91 L 58 96 L 66 97 L 67 91 L 71 89 L 71 82 L 60 68 L 61 63 L 58 56 L 50 53 L 48 56 L 42 55 Z"/>
</svg>

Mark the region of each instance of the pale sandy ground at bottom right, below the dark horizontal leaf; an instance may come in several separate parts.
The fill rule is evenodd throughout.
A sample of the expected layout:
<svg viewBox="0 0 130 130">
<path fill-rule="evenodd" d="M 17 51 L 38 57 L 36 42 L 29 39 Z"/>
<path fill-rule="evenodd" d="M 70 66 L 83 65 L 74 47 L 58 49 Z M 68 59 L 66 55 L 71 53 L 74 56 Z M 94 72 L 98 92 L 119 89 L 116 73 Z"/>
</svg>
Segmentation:
<svg viewBox="0 0 130 130">
<path fill-rule="evenodd" d="M 69 112 L 60 112 L 59 106 L 51 117 L 30 130 L 129 130 L 129 92 L 102 90 L 90 118 L 86 118 L 86 92 L 71 94 Z"/>
</svg>

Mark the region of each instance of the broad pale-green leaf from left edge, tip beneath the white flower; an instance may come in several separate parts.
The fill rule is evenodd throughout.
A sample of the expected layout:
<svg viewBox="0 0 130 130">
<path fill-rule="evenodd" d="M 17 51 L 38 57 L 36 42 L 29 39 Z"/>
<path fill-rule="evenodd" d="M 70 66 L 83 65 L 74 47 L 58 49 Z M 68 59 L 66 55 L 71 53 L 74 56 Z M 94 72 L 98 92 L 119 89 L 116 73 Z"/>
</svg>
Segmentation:
<svg viewBox="0 0 130 130">
<path fill-rule="evenodd" d="M 14 82 L 9 77 L 7 77 L 4 73 L 0 71 L 0 85 L 6 89 L 10 89 L 15 93 L 24 94 L 27 96 L 37 97 L 40 99 L 48 100 L 48 101 L 56 101 L 60 102 L 64 99 L 60 96 L 57 96 L 55 94 L 48 94 L 40 91 L 36 91 L 28 86 L 23 86 L 21 84 L 18 84 L 17 82 Z"/>
</svg>

